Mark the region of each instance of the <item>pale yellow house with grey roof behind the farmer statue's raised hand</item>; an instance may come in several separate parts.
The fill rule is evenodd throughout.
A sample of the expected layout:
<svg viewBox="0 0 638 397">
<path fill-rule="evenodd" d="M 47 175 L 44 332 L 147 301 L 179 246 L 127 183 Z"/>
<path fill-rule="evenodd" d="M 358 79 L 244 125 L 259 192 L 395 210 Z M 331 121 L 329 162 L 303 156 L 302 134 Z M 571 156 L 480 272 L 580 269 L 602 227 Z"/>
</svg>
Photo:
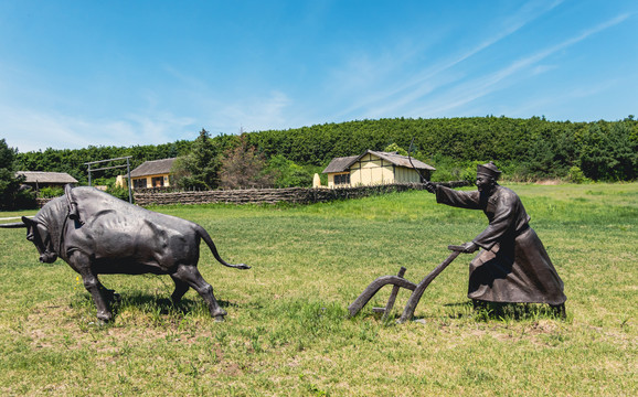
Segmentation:
<svg viewBox="0 0 638 397">
<path fill-rule="evenodd" d="M 436 170 L 415 159 L 412 163 L 427 179 Z M 406 155 L 366 150 L 361 155 L 332 159 L 323 173 L 328 174 L 328 187 L 418 183 L 421 178 L 414 168 Z"/>
</svg>

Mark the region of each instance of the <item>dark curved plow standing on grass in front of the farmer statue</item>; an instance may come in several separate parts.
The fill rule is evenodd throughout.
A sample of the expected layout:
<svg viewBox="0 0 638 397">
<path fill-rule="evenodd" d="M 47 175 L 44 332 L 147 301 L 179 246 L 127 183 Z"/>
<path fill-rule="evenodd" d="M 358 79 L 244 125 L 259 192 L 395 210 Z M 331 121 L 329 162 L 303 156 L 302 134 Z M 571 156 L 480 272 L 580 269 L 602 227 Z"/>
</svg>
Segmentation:
<svg viewBox="0 0 638 397">
<path fill-rule="evenodd" d="M 451 250 L 451 254 L 447 257 L 447 259 L 444 260 L 440 265 L 438 265 L 429 275 L 427 275 L 417 285 L 403 278 L 406 270 L 404 267 L 402 267 L 401 270 L 398 270 L 398 273 L 396 276 L 382 276 L 379 277 L 376 280 L 372 281 L 370 286 L 368 286 L 368 288 L 365 288 L 365 290 L 363 290 L 363 292 L 361 292 L 361 294 L 354 300 L 354 302 L 352 302 L 352 304 L 348 307 L 350 316 L 354 316 L 357 313 L 359 313 L 359 311 L 363 309 L 363 307 L 372 299 L 372 297 L 374 297 L 376 292 L 379 292 L 381 288 L 387 285 L 393 285 L 394 287 L 392 288 L 392 292 L 390 293 L 390 299 L 387 300 L 385 308 L 373 308 L 372 310 L 378 313 L 383 313 L 383 320 L 387 319 L 390 312 L 392 311 L 392 308 L 394 307 L 394 302 L 396 301 L 398 290 L 401 288 L 405 288 L 411 290 L 412 294 L 410 296 L 410 299 L 405 304 L 405 309 L 403 309 L 403 314 L 401 314 L 401 318 L 396 322 L 402 324 L 408 320 L 412 320 L 412 316 L 414 315 L 414 310 L 416 309 L 416 305 L 418 304 L 418 301 L 421 300 L 421 297 L 423 296 L 423 292 L 425 291 L 427 286 L 429 286 L 429 283 L 438 275 L 440 275 L 440 272 L 445 270 L 445 268 L 449 264 L 451 264 L 451 261 L 456 259 L 456 257 L 464 250 L 464 247 L 461 246 L 450 245 L 447 246 L 447 248 Z"/>
</svg>

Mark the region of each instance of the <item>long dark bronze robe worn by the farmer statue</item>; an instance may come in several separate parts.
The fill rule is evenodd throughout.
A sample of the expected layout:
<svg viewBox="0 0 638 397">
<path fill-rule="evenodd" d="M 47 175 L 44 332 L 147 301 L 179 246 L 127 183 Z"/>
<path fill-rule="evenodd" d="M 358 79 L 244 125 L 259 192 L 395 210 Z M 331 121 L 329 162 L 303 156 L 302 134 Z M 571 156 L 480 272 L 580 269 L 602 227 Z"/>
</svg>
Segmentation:
<svg viewBox="0 0 638 397">
<path fill-rule="evenodd" d="M 497 185 L 488 195 L 437 185 L 437 203 L 482 210 L 489 226 L 472 242 L 482 249 L 469 267 L 468 298 L 489 302 L 562 304 L 563 281 L 519 196 Z"/>
</svg>

